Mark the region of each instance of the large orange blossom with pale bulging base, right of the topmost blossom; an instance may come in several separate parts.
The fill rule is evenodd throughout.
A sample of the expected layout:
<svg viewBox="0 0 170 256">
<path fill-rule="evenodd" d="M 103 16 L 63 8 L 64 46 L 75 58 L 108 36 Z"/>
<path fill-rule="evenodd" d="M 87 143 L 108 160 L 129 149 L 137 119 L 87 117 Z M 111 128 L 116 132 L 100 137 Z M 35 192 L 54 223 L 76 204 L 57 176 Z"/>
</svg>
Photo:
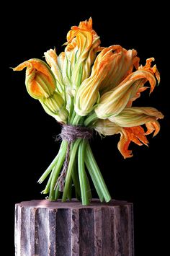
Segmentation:
<svg viewBox="0 0 170 256">
<path fill-rule="evenodd" d="M 120 45 L 104 48 L 94 61 L 91 76 L 85 79 L 76 93 L 75 110 L 87 115 L 97 102 L 100 93 L 114 88 L 122 79 L 138 67 L 135 50 L 125 50 Z"/>
</svg>

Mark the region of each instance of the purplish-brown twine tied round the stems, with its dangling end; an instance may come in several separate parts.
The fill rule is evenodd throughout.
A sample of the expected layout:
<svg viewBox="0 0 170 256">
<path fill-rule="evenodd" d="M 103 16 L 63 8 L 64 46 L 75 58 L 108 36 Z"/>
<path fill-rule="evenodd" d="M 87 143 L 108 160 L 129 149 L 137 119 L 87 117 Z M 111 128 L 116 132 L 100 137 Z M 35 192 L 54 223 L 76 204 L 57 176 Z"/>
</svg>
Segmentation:
<svg viewBox="0 0 170 256">
<path fill-rule="evenodd" d="M 68 169 L 69 158 L 70 158 L 70 149 L 71 143 L 76 141 L 77 138 L 83 138 L 89 140 L 93 135 L 93 130 L 86 128 L 84 126 L 73 126 L 73 125 L 63 125 L 61 134 L 58 135 L 58 139 L 68 141 L 66 158 L 63 164 L 63 169 L 61 175 L 58 177 L 58 180 L 55 184 L 54 189 L 59 186 L 59 191 L 63 192 L 65 177 Z"/>
</svg>

